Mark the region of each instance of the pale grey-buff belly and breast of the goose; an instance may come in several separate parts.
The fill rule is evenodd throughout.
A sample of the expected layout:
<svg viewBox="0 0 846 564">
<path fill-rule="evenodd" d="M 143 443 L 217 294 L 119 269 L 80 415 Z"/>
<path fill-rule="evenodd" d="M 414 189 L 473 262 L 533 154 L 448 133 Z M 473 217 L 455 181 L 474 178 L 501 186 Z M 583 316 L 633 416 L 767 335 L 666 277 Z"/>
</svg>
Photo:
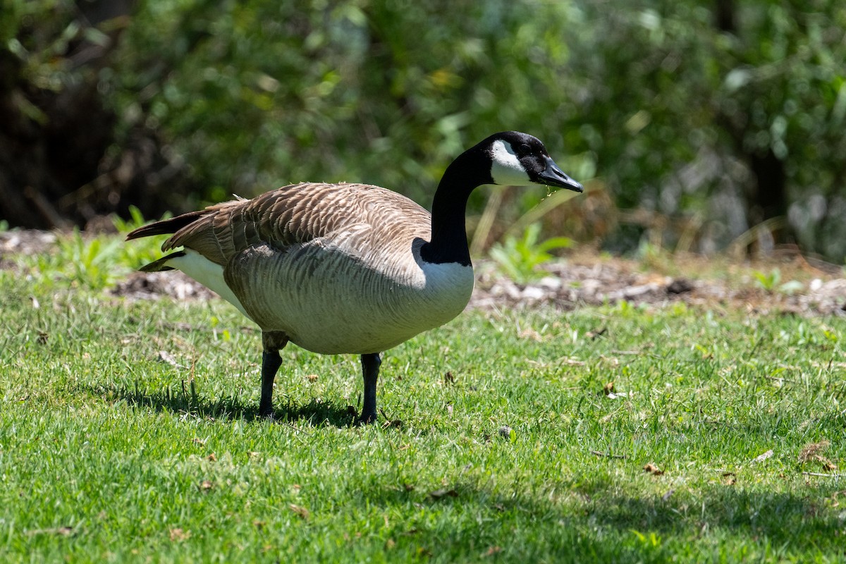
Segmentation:
<svg viewBox="0 0 846 564">
<path fill-rule="evenodd" d="M 452 320 L 473 291 L 470 266 L 434 265 L 409 256 L 402 265 L 377 270 L 365 260 L 326 249 L 319 255 L 264 260 L 254 282 L 236 289 L 262 330 L 283 331 L 291 342 L 316 353 L 393 348 Z M 244 282 L 244 276 L 239 280 Z"/>
</svg>

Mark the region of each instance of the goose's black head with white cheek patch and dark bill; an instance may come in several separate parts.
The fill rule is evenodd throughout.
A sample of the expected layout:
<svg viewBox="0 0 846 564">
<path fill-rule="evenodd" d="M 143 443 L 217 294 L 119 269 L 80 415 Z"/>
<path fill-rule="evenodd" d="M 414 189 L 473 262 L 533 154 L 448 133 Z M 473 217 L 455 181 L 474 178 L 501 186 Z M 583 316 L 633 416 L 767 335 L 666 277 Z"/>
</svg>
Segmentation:
<svg viewBox="0 0 846 564">
<path fill-rule="evenodd" d="M 494 134 L 480 145 L 487 145 L 493 184 L 527 186 L 543 184 L 581 192 L 582 185 L 570 178 L 552 161 L 541 140 L 519 131 Z M 478 145 L 477 145 L 478 146 Z"/>
</svg>

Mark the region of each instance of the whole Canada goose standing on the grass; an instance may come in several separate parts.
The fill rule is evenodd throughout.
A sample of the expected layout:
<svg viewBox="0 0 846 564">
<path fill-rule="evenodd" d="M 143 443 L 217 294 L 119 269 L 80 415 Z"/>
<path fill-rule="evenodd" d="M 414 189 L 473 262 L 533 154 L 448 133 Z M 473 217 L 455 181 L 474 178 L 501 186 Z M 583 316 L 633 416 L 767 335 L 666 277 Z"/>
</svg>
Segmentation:
<svg viewBox="0 0 846 564">
<path fill-rule="evenodd" d="M 459 315 L 473 268 L 464 208 L 481 184 L 544 184 L 581 192 L 541 141 L 494 134 L 443 173 L 431 215 L 391 190 L 300 183 L 140 227 L 127 239 L 171 234 L 182 250 L 141 268 L 179 269 L 261 327 L 259 413 L 272 417 L 273 379 L 288 342 L 361 355 L 364 406 L 376 420 L 379 353 Z"/>
</svg>

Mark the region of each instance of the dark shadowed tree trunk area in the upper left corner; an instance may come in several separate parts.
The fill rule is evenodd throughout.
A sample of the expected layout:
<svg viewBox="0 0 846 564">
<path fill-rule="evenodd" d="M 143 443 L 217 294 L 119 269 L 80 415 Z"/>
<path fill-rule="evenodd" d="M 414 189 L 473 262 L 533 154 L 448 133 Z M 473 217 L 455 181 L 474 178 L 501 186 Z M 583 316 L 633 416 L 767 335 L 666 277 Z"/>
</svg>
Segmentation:
<svg viewBox="0 0 846 564">
<path fill-rule="evenodd" d="M 99 90 L 100 71 L 112 64 L 134 6 L 135 0 L 86 1 L 20 25 L 19 41 L 34 50 L 52 48 L 51 33 L 70 21 L 80 25 L 65 52 L 53 55 L 72 76 L 58 88 L 36 85 L 25 62 L 0 46 L 0 219 L 10 226 L 85 226 L 109 213 L 125 216 L 129 205 L 146 216 L 179 210 L 190 188 L 186 169 L 168 162 L 162 142 L 143 126 L 115 151 L 117 116 Z M 108 40 L 87 41 L 81 30 L 106 20 Z"/>
</svg>

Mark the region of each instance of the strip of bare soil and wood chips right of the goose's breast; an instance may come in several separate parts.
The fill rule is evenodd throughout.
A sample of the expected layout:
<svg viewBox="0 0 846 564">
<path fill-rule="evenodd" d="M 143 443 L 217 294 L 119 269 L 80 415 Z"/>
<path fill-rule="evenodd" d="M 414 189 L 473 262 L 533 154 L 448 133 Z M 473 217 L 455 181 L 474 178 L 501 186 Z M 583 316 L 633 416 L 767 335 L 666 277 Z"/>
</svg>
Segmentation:
<svg viewBox="0 0 846 564">
<path fill-rule="evenodd" d="M 668 304 L 684 302 L 703 309 L 744 310 L 749 313 L 846 315 L 846 278 L 830 272 L 797 269 L 793 264 L 732 266 L 709 271 L 709 261 L 688 257 L 689 268 L 644 264 L 596 255 L 578 255 L 545 265 L 549 276 L 519 285 L 481 269 L 470 305 L 480 308 L 533 307 L 554 304 L 560 309 L 581 305 Z M 695 267 L 694 267 L 695 266 Z M 782 282 L 765 289 L 756 272 L 777 268 Z M 832 269 L 828 269 L 829 271 Z M 684 274 L 680 273 L 684 272 Z M 795 281 L 801 287 L 785 287 Z"/>
</svg>

